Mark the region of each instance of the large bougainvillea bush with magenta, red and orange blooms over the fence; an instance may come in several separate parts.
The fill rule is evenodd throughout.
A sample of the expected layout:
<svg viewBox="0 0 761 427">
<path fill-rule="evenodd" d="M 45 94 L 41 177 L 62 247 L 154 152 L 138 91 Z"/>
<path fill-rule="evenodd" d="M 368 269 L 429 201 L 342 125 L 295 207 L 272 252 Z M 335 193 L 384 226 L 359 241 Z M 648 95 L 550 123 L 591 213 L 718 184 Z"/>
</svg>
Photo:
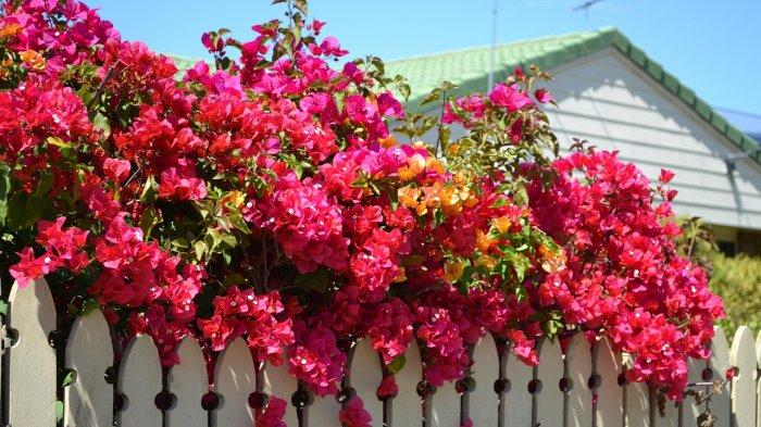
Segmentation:
<svg viewBox="0 0 761 427">
<path fill-rule="evenodd" d="M 46 277 L 61 325 L 100 307 L 122 340 L 149 334 L 166 366 L 186 336 L 210 361 L 242 337 L 320 395 L 359 339 L 383 395 L 412 340 L 440 386 L 487 332 L 536 364 L 537 340 L 581 330 L 681 398 L 722 304 L 674 248 L 669 172 L 653 189 L 615 153 L 559 158 L 536 68 L 407 113 L 401 77 L 287 9 L 249 41 L 203 35 L 214 64 L 178 73 L 80 2 L 4 2 L 3 274 Z"/>
</svg>

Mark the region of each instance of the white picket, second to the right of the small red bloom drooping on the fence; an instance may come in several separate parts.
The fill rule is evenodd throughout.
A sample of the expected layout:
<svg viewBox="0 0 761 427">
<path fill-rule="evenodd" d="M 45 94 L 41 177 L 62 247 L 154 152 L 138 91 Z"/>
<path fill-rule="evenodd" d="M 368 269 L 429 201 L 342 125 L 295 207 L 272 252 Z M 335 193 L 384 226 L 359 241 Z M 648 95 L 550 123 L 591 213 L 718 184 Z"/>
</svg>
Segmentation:
<svg viewBox="0 0 761 427">
<path fill-rule="evenodd" d="M 564 425 L 591 426 L 591 348 L 584 334 L 578 332 L 571 338 L 564 362 L 566 379 L 570 380 Z"/>
</svg>

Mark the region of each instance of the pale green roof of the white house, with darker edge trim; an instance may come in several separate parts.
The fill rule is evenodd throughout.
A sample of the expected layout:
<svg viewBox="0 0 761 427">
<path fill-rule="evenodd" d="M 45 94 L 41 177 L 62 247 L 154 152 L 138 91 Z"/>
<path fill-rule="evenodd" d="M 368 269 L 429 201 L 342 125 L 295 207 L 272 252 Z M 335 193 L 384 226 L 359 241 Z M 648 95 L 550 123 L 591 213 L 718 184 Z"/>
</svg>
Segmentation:
<svg viewBox="0 0 761 427">
<path fill-rule="evenodd" d="M 649 58 L 613 27 L 497 45 L 495 63 L 498 64 L 498 70 L 495 71 L 495 81 L 506 79 L 519 65 L 527 68 L 534 64 L 541 70 L 550 70 L 606 48 L 616 49 L 628 58 L 741 150 L 758 147 L 758 142 L 750 136 L 729 124 L 691 89 L 663 70 L 661 64 Z M 479 47 L 401 59 L 387 62 L 386 74 L 390 76 L 400 74 L 408 78 L 412 93 L 407 104 L 414 109 L 433 88 L 444 80 L 450 80 L 459 86 L 451 93 L 453 96 L 485 91 L 490 55 L 491 47 Z M 756 153 L 753 158 L 761 163 L 761 152 Z"/>
</svg>

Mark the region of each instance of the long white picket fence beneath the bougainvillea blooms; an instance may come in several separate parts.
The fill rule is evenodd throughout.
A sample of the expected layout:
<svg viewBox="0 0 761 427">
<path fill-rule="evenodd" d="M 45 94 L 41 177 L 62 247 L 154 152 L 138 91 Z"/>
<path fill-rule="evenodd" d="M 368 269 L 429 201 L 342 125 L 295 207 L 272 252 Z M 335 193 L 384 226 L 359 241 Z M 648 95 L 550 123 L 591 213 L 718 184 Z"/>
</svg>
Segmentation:
<svg viewBox="0 0 761 427">
<path fill-rule="evenodd" d="M 266 395 L 289 402 L 284 419 L 288 426 L 340 425 L 340 399 L 308 399 L 285 366 L 257 371 L 242 339 L 233 342 L 216 361 L 213 391 L 219 404 L 209 411 L 201 404 L 210 387 L 195 340 L 182 342 L 182 362 L 163 373 L 151 338 L 139 336 L 124 349 L 113 375 L 109 326 L 97 311 L 77 319 L 66 340 L 65 365 L 59 367 L 49 344 L 49 335 L 55 329 L 55 307 L 45 280 L 24 289 L 14 285 L 5 326 L 13 343 L 5 348 L 0 372 L 3 426 L 55 426 L 57 401 L 61 400 L 66 427 L 251 427 L 261 406 L 257 402 L 265 402 Z M 487 337 L 473 349 L 473 377 L 463 382 L 470 387 L 447 384 L 438 389 L 421 384 L 421 359 L 412 344 L 407 365 L 397 377 L 399 393 L 385 401 L 376 397 L 383 378 L 379 357 L 366 342 L 360 342 L 352 351 L 342 389 L 362 398 L 373 426 L 458 427 L 470 417 L 478 427 L 681 427 L 697 426 L 699 414 L 710 405 L 718 417 L 716 427 L 756 427 L 761 405 L 757 354 L 761 352 L 757 353 L 747 327 L 737 331 L 732 349 L 719 329 L 712 359 L 691 363 L 690 381 L 694 388 L 708 390 L 711 376 L 723 377 L 729 366 L 739 369 L 737 377 L 708 402 L 666 402 L 664 411 L 659 410 L 657 393 L 647 386 L 622 380 L 622 357 L 607 341 L 590 347 L 581 335 L 574 337 L 564 356 L 557 342 L 544 342 L 536 367 L 520 363 L 507 350 L 500 354 Z M 73 384 L 62 393 L 57 390 L 58 368 L 76 372 Z M 108 381 L 107 369 L 117 379 Z M 159 409 L 158 402 L 167 395 L 172 397 L 171 405 Z M 304 405 L 297 409 L 294 402 Z"/>
</svg>

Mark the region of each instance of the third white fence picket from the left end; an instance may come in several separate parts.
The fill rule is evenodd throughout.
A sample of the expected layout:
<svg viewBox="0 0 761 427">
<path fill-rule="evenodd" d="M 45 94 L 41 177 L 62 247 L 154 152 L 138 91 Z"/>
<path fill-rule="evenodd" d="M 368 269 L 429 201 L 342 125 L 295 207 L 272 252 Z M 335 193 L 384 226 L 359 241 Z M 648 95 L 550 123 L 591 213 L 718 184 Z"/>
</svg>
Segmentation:
<svg viewBox="0 0 761 427">
<path fill-rule="evenodd" d="M 124 394 L 120 426 L 160 426 L 161 411 L 155 397 L 161 392 L 159 350 L 148 335 L 139 335 L 127 344 L 118 374 L 118 391 Z"/>
</svg>

